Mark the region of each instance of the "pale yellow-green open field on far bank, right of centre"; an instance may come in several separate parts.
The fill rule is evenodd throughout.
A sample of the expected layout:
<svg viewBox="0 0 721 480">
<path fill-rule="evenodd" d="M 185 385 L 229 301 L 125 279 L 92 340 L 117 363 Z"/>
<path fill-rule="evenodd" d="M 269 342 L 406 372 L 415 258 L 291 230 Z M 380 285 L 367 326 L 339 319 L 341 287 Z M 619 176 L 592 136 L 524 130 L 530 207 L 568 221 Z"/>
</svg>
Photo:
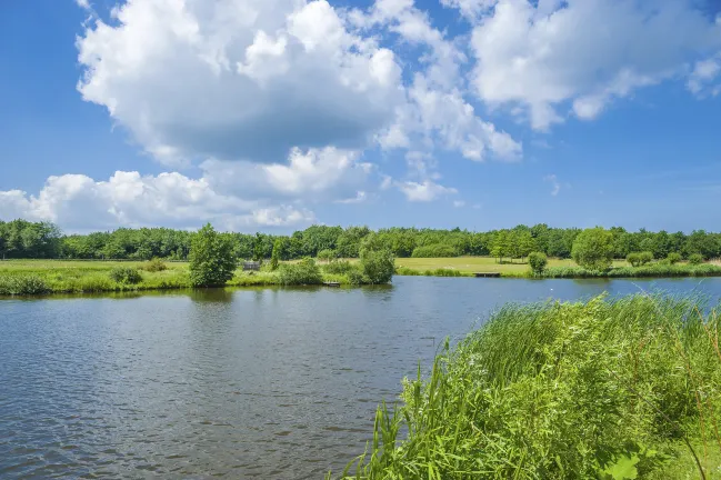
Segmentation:
<svg viewBox="0 0 721 480">
<path fill-rule="evenodd" d="M 405 267 L 413 270 L 437 270 L 437 269 L 453 269 L 461 272 L 501 272 L 501 273 L 524 273 L 529 267 L 527 263 L 498 263 L 491 257 L 455 257 L 455 258 L 429 258 L 429 259 L 414 259 L 402 258 L 395 259 L 395 266 Z M 549 259 L 548 267 L 574 267 L 573 260 L 559 260 Z M 624 260 L 617 260 L 613 267 L 627 267 Z"/>
</svg>

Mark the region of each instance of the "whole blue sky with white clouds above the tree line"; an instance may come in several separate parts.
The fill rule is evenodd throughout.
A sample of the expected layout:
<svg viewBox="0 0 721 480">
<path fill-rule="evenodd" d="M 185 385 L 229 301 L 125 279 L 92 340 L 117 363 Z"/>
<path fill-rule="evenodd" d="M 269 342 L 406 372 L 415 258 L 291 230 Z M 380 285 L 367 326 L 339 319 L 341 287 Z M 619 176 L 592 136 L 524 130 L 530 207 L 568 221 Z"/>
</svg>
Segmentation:
<svg viewBox="0 0 721 480">
<path fill-rule="evenodd" d="M 3 0 L 0 220 L 721 230 L 721 0 Z"/>
</svg>

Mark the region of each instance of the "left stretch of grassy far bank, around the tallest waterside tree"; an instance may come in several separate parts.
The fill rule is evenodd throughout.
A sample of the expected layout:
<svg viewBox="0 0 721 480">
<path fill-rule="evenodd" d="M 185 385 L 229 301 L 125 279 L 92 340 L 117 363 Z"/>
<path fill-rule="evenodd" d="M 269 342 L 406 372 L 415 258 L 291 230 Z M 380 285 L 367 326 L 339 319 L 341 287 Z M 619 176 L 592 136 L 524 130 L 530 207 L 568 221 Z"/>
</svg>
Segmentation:
<svg viewBox="0 0 721 480">
<path fill-rule="evenodd" d="M 170 290 L 192 288 L 189 264 L 166 262 L 164 269 L 150 271 L 149 262 L 133 261 L 62 261 L 62 260 L 11 260 L 0 261 L 0 296 L 26 296 L 46 293 L 94 293 L 143 290 Z M 136 270 L 138 282 L 117 281 L 113 269 Z M 324 272 L 321 281 L 350 284 L 347 274 Z M 229 287 L 281 286 L 278 271 L 251 271 L 241 269 L 228 282 Z"/>
</svg>

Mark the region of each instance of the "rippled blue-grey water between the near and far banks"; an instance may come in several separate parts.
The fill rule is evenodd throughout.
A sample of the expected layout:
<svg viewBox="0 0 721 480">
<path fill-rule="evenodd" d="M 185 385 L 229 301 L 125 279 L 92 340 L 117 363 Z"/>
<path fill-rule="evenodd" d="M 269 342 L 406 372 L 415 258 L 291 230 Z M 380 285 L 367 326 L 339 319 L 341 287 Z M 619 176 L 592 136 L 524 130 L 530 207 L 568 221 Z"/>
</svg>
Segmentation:
<svg viewBox="0 0 721 480">
<path fill-rule="evenodd" d="M 0 300 L 0 478 L 320 479 L 445 336 L 507 301 L 639 289 L 718 301 L 721 279 Z"/>
</svg>

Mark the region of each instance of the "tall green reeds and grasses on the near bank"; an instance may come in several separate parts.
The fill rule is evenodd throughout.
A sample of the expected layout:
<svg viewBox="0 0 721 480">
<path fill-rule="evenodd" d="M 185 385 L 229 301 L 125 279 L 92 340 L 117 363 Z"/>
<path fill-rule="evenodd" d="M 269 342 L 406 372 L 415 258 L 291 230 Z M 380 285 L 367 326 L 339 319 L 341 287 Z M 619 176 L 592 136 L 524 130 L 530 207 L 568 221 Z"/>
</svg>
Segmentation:
<svg viewBox="0 0 721 480">
<path fill-rule="evenodd" d="M 694 299 L 507 306 L 381 407 L 362 479 L 721 478 L 721 351 Z M 701 473 L 701 470 L 703 473 Z"/>
</svg>

